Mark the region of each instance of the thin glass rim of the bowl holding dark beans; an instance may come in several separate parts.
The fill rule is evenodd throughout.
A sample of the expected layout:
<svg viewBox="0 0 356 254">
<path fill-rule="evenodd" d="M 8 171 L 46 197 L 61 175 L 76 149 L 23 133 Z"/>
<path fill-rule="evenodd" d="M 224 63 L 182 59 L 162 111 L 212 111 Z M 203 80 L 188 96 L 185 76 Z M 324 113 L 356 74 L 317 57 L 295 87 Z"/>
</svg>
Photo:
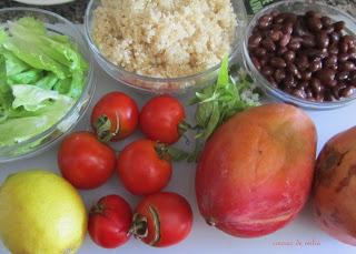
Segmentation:
<svg viewBox="0 0 356 254">
<path fill-rule="evenodd" d="M 347 99 L 343 99 L 343 100 L 338 100 L 338 101 L 330 101 L 330 102 L 313 102 L 313 101 L 307 101 L 307 100 L 303 100 L 299 99 L 297 96 L 294 96 L 289 93 L 284 92 L 280 89 L 277 89 L 275 87 L 273 87 L 270 84 L 270 82 L 260 73 L 260 71 L 258 71 L 255 67 L 255 64 L 251 61 L 250 54 L 249 54 L 249 50 L 248 50 L 248 39 L 249 39 L 249 33 L 250 31 L 254 29 L 254 23 L 256 23 L 256 21 L 264 16 L 265 13 L 268 13 L 270 11 L 273 11 L 274 9 L 276 9 L 277 7 L 280 6 L 288 6 L 288 4 L 295 4 L 295 3 L 313 3 L 315 6 L 319 6 L 326 9 L 330 9 L 334 10 L 335 12 L 337 12 L 340 17 L 346 17 L 347 19 L 349 19 L 350 21 L 353 21 L 353 23 L 356 24 L 356 19 L 353 18 L 350 14 L 348 14 L 347 12 L 345 12 L 344 10 L 340 10 L 336 7 L 332 7 L 327 3 L 320 2 L 320 1 L 313 1 L 313 0 L 307 0 L 307 1 L 303 1 L 303 0 L 286 0 L 286 1 L 280 1 L 280 2 L 276 2 L 273 3 L 266 8 L 264 8 L 263 10 L 260 10 L 259 12 L 257 12 L 254 18 L 249 21 L 247 28 L 246 28 L 246 32 L 244 35 L 244 41 L 243 41 L 243 59 L 244 59 L 244 64 L 246 67 L 246 70 L 250 72 L 250 74 L 253 77 L 255 77 L 254 79 L 256 79 L 258 81 L 258 84 L 263 88 L 263 89 L 267 89 L 268 92 L 271 93 L 271 95 L 278 100 L 283 100 L 283 101 L 287 101 L 290 103 L 296 103 L 299 106 L 303 108 L 308 108 L 308 109 L 315 109 L 315 110 L 328 110 L 328 109 L 336 109 L 343 105 L 347 105 L 349 103 L 352 103 L 353 101 L 355 101 L 356 99 L 356 94 L 347 98 Z M 356 32 L 353 32 L 354 34 L 356 34 Z M 268 93 L 267 92 L 267 93 Z"/>
</svg>

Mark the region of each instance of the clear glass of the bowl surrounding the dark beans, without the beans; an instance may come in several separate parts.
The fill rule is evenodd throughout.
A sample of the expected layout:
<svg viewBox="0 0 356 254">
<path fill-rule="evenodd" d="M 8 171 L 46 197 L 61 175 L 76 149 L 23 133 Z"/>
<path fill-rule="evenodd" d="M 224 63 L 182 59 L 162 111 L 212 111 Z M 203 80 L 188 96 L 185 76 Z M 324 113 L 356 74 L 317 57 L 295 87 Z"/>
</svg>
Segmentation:
<svg viewBox="0 0 356 254">
<path fill-rule="evenodd" d="M 301 0 L 288 0 L 288 1 L 281 1 L 274 3 L 271 6 L 268 6 L 267 8 L 263 9 L 260 12 L 258 12 L 250 23 L 247 27 L 244 43 L 243 43 L 243 61 L 247 69 L 247 71 L 250 73 L 250 75 L 256 80 L 258 85 L 270 96 L 274 99 L 277 99 L 283 102 L 291 103 L 295 105 L 298 105 L 300 108 L 305 109 L 312 109 L 312 110 L 333 110 L 340 106 L 345 106 L 352 102 L 355 101 L 356 94 L 354 94 L 350 98 L 342 99 L 339 101 L 332 101 L 332 102 L 312 102 L 307 100 L 303 100 L 299 98 L 296 98 L 294 95 L 290 95 L 270 84 L 268 80 L 265 79 L 265 77 L 256 69 L 255 64 L 251 61 L 251 58 L 249 55 L 248 51 L 248 39 L 253 33 L 253 29 L 255 28 L 258 19 L 263 17 L 264 14 L 270 13 L 273 11 L 279 11 L 279 12 L 293 12 L 297 14 L 305 13 L 306 11 L 314 10 L 318 11 L 324 16 L 329 16 L 333 20 L 339 21 L 343 20 L 346 23 L 346 28 L 344 31 L 346 33 L 355 35 L 356 33 L 356 20 L 347 14 L 346 12 L 334 8 L 332 6 L 328 6 L 326 3 L 316 2 L 316 1 L 301 1 Z"/>
</svg>

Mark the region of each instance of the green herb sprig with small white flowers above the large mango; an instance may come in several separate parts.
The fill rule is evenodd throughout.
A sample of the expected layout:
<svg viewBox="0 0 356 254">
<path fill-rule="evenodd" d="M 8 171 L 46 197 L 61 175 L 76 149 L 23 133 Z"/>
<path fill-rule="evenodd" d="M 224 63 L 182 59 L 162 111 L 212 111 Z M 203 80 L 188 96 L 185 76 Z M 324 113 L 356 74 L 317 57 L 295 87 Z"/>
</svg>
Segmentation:
<svg viewBox="0 0 356 254">
<path fill-rule="evenodd" d="M 259 105 L 254 80 L 241 69 L 229 74 L 229 61 L 225 55 L 215 85 L 196 92 L 190 104 L 197 104 L 195 115 L 197 139 L 206 141 L 214 131 L 234 114 Z M 231 72 L 233 73 L 233 72 Z"/>
</svg>

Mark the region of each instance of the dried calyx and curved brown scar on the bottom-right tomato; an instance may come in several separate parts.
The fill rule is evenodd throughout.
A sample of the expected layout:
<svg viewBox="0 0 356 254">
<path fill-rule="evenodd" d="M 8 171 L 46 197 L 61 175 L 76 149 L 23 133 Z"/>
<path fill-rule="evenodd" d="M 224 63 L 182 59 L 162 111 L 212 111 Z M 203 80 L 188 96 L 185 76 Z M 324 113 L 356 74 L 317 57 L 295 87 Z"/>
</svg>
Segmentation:
<svg viewBox="0 0 356 254">
<path fill-rule="evenodd" d="M 154 206 L 148 206 L 149 213 L 152 216 L 155 237 L 149 242 L 149 245 L 156 246 L 160 241 L 160 221 L 157 210 Z M 132 234 L 135 238 L 142 240 L 148 236 L 148 219 L 139 213 L 134 214 L 131 227 L 129 234 Z"/>
</svg>

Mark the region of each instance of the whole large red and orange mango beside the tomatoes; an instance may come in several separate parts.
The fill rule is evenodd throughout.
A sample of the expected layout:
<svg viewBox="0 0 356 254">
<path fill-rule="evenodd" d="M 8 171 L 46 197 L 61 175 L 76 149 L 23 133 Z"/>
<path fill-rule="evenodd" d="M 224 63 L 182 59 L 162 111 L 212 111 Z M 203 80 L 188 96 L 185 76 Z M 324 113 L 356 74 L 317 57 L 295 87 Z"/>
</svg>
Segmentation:
<svg viewBox="0 0 356 254">
<path fill-rule="evenodd" d="M 208 224 L 239 237 L 275 232 L 303 209 L 317 134 L 306 113 L 268 104 L 233 116 L 207 142 L 196 195 Z"/>
</svg>

